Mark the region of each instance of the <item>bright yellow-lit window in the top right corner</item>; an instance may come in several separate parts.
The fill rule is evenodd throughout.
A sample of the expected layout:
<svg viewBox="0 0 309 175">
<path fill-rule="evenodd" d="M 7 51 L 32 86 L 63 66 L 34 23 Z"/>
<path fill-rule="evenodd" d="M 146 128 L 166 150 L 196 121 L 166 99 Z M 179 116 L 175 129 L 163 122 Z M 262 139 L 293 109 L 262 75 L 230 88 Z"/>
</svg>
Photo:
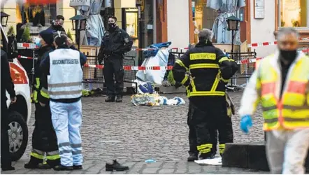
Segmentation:
<svg viewBox="0 0 309 175">
<path fill-rule="evenodd" d="M 309 27 L 309 0 L 280 0 L 279 27 Z"/>
</svg>

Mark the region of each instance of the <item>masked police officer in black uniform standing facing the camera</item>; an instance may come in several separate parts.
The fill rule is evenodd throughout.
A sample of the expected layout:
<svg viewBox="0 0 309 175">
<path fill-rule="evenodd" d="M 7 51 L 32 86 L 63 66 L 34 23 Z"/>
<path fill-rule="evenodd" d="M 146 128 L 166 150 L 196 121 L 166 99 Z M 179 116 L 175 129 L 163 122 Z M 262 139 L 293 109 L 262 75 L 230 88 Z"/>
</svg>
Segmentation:
<svg viewBox="0 0 309 175">
<path fill-rule="evenodd" d="M 104 80 L 108 90 L 108 98 L 105 102 L 122 102 L 122 92 L 124 88 L 124 53 L 132 48 L 133 41 L 129 34 L 116 25 L 117 18 L 108 18 L 108 31 L 103 36 L 100 52 L 98 55 L 99 63 L 104 60 Z M 114 83 L 114 75 L 116 83 Z"/>
</svg>

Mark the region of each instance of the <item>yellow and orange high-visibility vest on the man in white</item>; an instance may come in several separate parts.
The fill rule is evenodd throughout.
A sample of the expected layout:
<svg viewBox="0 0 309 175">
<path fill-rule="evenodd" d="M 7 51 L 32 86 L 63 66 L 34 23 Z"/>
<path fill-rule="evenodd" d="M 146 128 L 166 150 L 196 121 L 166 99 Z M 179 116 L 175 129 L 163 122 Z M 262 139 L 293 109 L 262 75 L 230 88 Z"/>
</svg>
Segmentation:
<svg viewBox="0 0 309 175">
<path fill-rule="evenodd" d="M 285 90 L 275 96 L 278 72 L 270 64 L 274 57 L 260 62 L 257 90 L 263 107 L 264 130 L 309 128 L 309 57 L 299 59 L 285 80 Z"/>
</svg>

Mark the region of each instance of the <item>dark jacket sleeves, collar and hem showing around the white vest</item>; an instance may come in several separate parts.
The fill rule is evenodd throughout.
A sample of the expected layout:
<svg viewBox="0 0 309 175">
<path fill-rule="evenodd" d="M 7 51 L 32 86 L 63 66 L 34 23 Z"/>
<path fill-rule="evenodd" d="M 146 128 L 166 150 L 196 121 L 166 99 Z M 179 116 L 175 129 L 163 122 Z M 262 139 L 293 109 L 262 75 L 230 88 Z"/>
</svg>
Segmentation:
<svg viewBox="0 0 309 175">
<path fill-rule="evenodd" d="M 61 47 L 59 46 L 58 48 L 66 48 L 66 47 Z M 74 45 L 71 46 L 71 48 L 66 48 L 66 49 L 73 49 L 73 50 L 78 50 L 74 47 Z M 87 61 L 87 57 L 80 52 L 80 66 L 83 66 Z M 47 76 L 50 75 L 50 55 L 45 55 L 45 58 L 42 59 L 42 62 L 40 64 L 40 69 L 43 71 L 44 77 L 41 78 L 41 86 L 44 87 L 46 90 L 48 90 L 48 78 Z M 74 103 L 78 102 L 81 97 L 78 97 L 76 99 L 50 99 L 52 102 L 60 102 L 60 103 Z M 44 101 L 45 100 L 45 101 Z M 39 102 L 48 102 L 48 99 L 39 97 L 38 98 Z"/>
</svg>

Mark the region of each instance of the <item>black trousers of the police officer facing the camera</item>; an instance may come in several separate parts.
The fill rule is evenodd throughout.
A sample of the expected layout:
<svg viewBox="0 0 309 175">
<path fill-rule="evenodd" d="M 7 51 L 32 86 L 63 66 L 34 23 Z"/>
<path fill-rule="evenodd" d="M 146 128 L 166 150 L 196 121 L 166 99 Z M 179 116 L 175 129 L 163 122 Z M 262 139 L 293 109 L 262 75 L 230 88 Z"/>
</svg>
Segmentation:
<svg viewBox="0 0 309 175">
<path fill-rule="evenodd" d="M 115 97 L 115 95 L 122 95 L 124 88 L 123 57 L 110 56 L 104 59 L 103 74 L 108 96 Z"/>
</svg>

